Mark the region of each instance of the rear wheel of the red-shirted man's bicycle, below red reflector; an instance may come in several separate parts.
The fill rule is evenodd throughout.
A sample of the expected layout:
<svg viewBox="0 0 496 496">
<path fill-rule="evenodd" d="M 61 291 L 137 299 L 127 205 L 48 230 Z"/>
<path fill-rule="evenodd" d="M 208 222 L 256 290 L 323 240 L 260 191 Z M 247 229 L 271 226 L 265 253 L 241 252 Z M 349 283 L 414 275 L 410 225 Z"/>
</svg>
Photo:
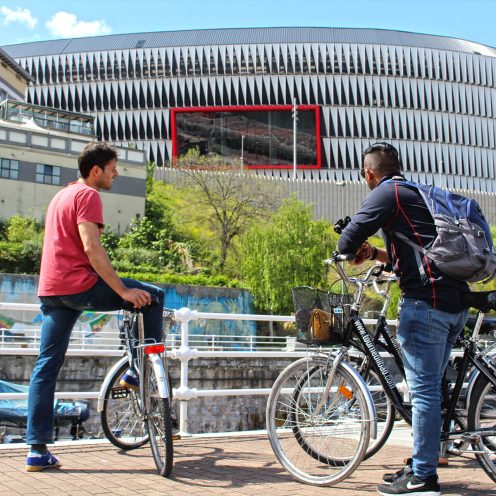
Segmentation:
<svg viewBox="0 0 496 496">
<path fill-rule="evenodd" d="M 146 424 L 157 471 L 167 477 L 172 471 L 172 421 L 169 398 L 161 398 L 153 364 L 145 355 L 143 387 L 146 408 Z"/>
</svg>

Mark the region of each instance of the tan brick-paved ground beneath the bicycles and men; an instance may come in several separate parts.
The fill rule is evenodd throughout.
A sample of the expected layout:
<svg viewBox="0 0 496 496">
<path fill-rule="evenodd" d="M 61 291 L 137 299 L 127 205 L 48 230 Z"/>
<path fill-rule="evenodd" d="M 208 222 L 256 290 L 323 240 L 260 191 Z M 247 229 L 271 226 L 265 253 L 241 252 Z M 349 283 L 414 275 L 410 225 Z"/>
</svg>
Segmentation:
<svg viewBox="0 0 496 496">
<path fill-rule="evenodd" d="M 407 437 L 386 445 L 345 482 L 325 488 L 293 481 L 261 435 L 178 440 L 169 479 L 156 474 L 148 447 L 122 452 L 101 443 L 56 446 L 62 469 L 33 474 L 24 471 L 25 448 L 3 445 L 0 495 L 373 495 L 382 474 L 400 468 L 409 454 Z M 440 477 L 445 496 L 496 496 L 496 484 L 471 458 L 453 458 Z"/>
</svg>

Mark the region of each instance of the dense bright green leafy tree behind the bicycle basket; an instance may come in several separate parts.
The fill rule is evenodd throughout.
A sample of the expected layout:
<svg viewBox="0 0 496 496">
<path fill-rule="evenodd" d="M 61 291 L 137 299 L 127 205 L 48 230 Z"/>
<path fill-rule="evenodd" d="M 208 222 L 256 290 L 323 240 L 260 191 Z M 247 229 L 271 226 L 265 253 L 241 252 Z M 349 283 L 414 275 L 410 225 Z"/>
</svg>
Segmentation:
<svg viewBox="0 0 496 496">
<path fill-rule="evenodd" d="M 323 260 L 336 247 L 326 221 L 312 220 L 312 207 L 294 196 L 272 219 L 251 227 L 241 240 L 242 273 L 255 305 L 273 314 L 293 310 L 291 289 L 325 287 Z"/>
</svg>

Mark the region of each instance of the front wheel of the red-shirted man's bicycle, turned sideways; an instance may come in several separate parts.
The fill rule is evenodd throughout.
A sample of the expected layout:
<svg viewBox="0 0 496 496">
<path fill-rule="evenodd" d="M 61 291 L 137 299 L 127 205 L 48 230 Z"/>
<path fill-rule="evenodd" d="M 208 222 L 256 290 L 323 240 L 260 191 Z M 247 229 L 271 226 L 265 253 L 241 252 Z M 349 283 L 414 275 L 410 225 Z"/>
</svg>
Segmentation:
<svg viewBox="0 0 496 496">
<path fill-rule="evenodd" d="M 143 417 L 138 408 L 138 395 L 123 388 L 119 381 L 129 368 L 127 362 L 117 369 L 105 391 L 105 402 L 100 414 L 107 439 L 123 450 L 136 449 L 148 442 Z"/>
</svg>

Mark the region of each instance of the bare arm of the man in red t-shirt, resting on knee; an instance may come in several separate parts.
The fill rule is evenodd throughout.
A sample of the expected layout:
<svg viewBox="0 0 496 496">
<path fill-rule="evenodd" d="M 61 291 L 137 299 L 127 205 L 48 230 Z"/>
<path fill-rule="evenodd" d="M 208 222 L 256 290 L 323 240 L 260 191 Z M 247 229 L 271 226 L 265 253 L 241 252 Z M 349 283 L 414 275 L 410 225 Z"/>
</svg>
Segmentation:
<svg viewBox="0 0 496 496">
<path fill-rule="evenodd" d="M 141 289 L 128 288 L 115 272 L 109 257 L 100 241 L 100 230 L 93 222 L 78 224 L 79 236 L 83 243 L 91 266 L 95 272 L 125 301 L 131 302 L 135 308 L 151 303 L 150 293 Z"/>
</svg>

